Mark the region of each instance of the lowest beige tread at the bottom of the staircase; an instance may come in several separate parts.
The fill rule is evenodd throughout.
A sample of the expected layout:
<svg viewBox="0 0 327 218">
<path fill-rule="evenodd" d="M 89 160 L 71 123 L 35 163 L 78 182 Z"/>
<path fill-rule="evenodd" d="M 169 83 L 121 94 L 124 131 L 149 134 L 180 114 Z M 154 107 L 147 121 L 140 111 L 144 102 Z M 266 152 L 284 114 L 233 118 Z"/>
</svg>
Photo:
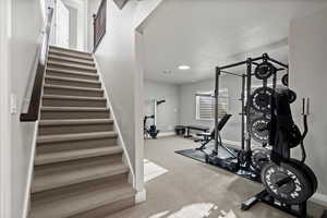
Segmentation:
<svg viewBox="0 0 327 218">
<path fill-rule="evenodd" d="M 113 187 L 95 187 L 94 192 L 81 191 L 69 197 L 63 196 L 60 201 L 32 206 L 29 218 L 71 217 L 133 196 L 135 190 L 126 183 Z"/>
</svg>

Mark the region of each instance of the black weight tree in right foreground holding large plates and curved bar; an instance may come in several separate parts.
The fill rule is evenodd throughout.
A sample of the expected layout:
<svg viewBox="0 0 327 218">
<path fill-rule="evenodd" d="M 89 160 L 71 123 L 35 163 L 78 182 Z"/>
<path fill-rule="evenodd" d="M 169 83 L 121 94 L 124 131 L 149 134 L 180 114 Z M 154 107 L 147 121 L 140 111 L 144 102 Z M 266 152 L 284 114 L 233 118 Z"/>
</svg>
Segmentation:
<svg viewBox="0 0 327 218">
<path fill-rule="evenodd" d="M 262 169 L 265 190 L 242 203 L 242 209 L 257 202 L 266 203 L 296 217 L 306 217 L 306 201 L 316 192 L 318 182 L 304 161 L 306 158 L 303 140 L 307 133 L 310 101 L 303 99 L 302 116 L 304 131 L 301 134 L 292 120 L 289 89 L 275 92 L 271 98 L 269 144 L 272 145 L 270 162 Z M 305 108 L 306 105 L 306 108 Z M 298 132 L 299 133 L 294 133 Z M 295 138 L 298 137 L 298 138 Z M 290 149 L 300 141 L 302 159 L 291 158 Z M 298 145 L 299 145 L 298 144 Z"/>
</svg>

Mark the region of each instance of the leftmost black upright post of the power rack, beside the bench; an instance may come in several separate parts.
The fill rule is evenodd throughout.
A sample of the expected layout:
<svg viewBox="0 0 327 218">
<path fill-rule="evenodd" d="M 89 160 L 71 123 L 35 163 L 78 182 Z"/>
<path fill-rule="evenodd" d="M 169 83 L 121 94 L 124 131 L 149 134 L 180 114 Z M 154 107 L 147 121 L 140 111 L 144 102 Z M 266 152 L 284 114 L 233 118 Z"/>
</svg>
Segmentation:
<svg viewBox="0 0 327 218">
<path fill-rule="evenodd" d="M 218 155 L 218 146 L 219 146 L 219 130 L 218 130 L 218 118 L 219 118 L 219 77 L 220 77 L 220 69 L 216 68 L 216 76 L 215 76 L 215 149 L 213 155 Z"/>
</svg>

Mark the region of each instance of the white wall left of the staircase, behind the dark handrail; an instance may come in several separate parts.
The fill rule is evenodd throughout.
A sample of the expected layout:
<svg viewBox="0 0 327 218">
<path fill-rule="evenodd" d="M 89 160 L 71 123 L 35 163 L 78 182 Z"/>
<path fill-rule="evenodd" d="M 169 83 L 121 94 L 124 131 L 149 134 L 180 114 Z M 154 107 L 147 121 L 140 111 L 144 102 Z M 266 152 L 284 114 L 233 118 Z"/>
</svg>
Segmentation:
<svg viewBox="0 0 327 218">
<path fill-rule="evenodd" d="M 34 60 L 41 32 L 39 0 L 12 1 L 11 93 L 16 96 L 17 112 L 11 117 L 12 216 L 21 218 L 31 158 L 34 123 L 20 122 L 26 86 L 34 73 Z"/>
</svg>

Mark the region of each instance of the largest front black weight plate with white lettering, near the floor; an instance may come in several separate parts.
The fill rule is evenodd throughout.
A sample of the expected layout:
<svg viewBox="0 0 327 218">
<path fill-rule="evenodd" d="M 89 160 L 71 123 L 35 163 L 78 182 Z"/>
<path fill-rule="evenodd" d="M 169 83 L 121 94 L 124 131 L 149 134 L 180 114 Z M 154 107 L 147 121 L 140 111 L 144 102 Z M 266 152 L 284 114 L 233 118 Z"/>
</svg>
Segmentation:
<svg viewBox="0 0 327 218">
<path fill-rule="evenodd" d="M 288 180 L 284 184 L 278 184 Z M 262 170 L 262 182 L 267 192 L 286 204 L 301 204 L 313 193 L 310 178 L 292 164 L 267 164 Z"/>
</svg>

